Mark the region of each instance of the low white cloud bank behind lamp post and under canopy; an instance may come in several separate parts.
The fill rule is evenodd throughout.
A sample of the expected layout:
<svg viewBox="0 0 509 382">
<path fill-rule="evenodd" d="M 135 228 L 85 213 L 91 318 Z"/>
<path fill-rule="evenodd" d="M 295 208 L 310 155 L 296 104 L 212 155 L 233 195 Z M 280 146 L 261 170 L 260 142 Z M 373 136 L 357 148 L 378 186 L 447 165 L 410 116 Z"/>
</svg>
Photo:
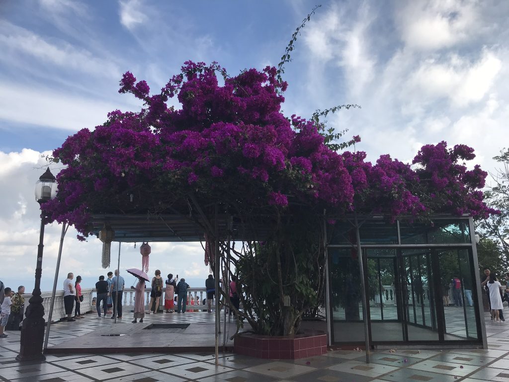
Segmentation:
<svg viewBox="0 0 509 382">
<path fill-rule="evenodd" d="M 50 152 L 36 152 L 24 149 L 21 152 L 5 153 L 0 151 L 0 184 L 9 185 L 3 188 L 0 199 L 0 253 L 8 266 L 0 269 L 0 279 L 9 280 L 10 284 L 24 284 L 32 290 L 33 275 L 36 265 L 37 244 L 39 243 L 40 210 L 35 201 L 35 182 L 45 171 L 47 165 L 43 155 Z M 50 166 L 53 174 L 59 168 Z M 13 181 L 15 179 L 15 181 Z M 56 223 L 45 227 L 42 288 L 50 290 L 53 283 L 56 257 L 60 245 L 62 226 Z M 96 237 L 86 242 L 76 239 L 76 230 L 70 227 L 64 240 L 62 263 L 58 287 L 63 276 L 69 271 L 83 277 L 84 287 L 92 287 L 99 275 L 105 275 L 101 267 L 102 243 Z M 131 283 L 125 269 L 141 266 L 142 256 L 139 244 L 121 244 L 121 273 L 126 283 Z M 205 266 L 204 253 L 200 243 L 151 243 L 149 275 L 160 269 L 163 276 L 169 272 L 191 280 L 193 287 L 202 287 L 209 268 Z M 112 243 L 111 266 L 116 268 L 118 243 Z M 10 285 L 11 286 L 11 285 Z"/>
</svg>

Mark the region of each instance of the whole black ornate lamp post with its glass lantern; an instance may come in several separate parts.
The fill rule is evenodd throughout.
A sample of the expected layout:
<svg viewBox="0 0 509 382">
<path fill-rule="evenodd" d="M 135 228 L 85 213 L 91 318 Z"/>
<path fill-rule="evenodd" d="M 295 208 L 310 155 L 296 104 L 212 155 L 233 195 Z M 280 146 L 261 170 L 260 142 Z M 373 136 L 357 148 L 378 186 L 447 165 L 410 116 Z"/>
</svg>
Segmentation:
<svg viewBox="0 0 509 382">
<path fill-rule="evenodd" d="M 41 175 L 36 183 L 35 198 L 39 204 L 54 199 L 56 196 L 56 179 L 49 171 Z M 16 357 L 17 361 L 44 360 L 42 345 L 44 342 L 44 306 L 41 297 L 42 250 L 44 248 L 44 226 L 46 219 L 41 213 L 41 233 L 37 251 L 37 267 L 35 270 L 35 287 L 30 297 L 30 305 L 26 308 L 25 319 L 21 330 L 21 347 Z"/>
</svg>

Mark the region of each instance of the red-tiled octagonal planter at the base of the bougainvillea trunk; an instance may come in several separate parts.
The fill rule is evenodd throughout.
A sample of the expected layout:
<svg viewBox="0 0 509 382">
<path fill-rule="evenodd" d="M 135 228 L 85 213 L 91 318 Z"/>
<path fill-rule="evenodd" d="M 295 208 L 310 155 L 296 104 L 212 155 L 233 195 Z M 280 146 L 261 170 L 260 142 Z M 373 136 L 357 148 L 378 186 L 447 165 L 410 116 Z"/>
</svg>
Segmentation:
<svg viewBox="0 0 509 382">
<path fill-rule="evenodd" d="M 320 331 L 305 331 L 291 337 L 241 333 L 234 340 L 234 353 L 271 360 L 296 360 L 326 352 L 327 335 Z"/>
</svg>

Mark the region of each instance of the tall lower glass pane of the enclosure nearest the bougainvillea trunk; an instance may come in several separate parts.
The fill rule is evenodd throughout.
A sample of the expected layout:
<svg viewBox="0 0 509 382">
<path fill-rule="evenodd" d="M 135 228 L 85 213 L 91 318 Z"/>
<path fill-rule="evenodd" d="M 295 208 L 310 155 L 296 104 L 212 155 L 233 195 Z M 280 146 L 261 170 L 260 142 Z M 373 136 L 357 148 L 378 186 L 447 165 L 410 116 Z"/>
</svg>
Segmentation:
<svg viewBox="0 0 509 382">
<path fill-rule="evenodd" d="M 364 341 L 361 283 L 356 249 L 329 248 L 335 342 Z"/>
</svg>

